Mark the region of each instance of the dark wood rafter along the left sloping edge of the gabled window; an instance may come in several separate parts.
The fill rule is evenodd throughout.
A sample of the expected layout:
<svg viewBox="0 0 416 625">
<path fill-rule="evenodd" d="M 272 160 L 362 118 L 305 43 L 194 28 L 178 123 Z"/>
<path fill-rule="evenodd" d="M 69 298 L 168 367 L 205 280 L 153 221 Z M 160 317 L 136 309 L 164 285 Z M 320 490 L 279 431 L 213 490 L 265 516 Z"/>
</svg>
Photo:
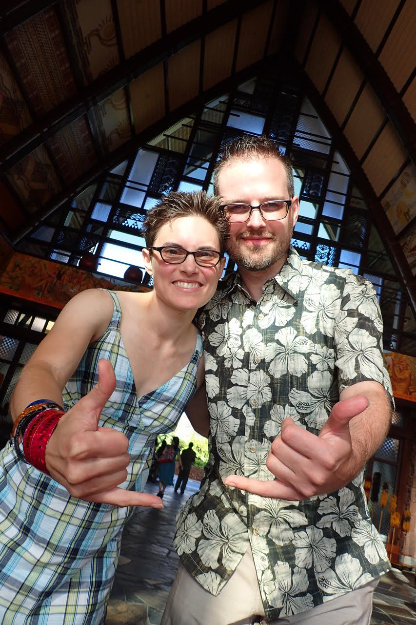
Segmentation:
<svg viewBox="0 0 416 625">
<path fill-rule="evenodd" d="M 135 154 L 137 149 L 139 149 L 141 146 L 151 141 L 151 139 L 158 136 L 159 134 L 163 133 L 166 128 L 170 128 L 180 119 L 189 116 L 197 109 L 203 107 L 210 100 L 218 98 L 222 94 L 226 93 L 229 89 L 236 87 L 237 84 L 244 82 L 245 80 L 254 76 L 257 72 L 261 70 L 263 62 L 264 61 L 258 61 L 249 68 L 245 68 L 244 70 L 235 74 L 233 77 L 227 78 L 224 81 L 221 81 L 219 84 L 215 85 L 214 87 L 207 89 L 201 95 L 196 96 L 196 98 L 193 98 L 186 104 L 182 104 L 182 106 L 180 106 L 179 108 L 171 111 L 171 113 L 169 113 L 167 116 L 160 119 L 156 123 L 152 124 L 152 126 L 149 126 L 149 128 L 147 128 L 145 131 L 142 131 L 142 133 L 139 133 L 129 141 L 126 141 L 126 143 L 115 149 L 111 154 L 107 154 L 107 156 L 102 158 L 99 163 L 94 164 L 92 168 L 84 172 L 74 182 L 67 185 L 64 190 L 54 196 L 51 201 L 47 202 L 47 204 L 34 212 L 31 217 L 27 219 L 24 227 L 16 232 L 12 244 L 16 245 L 17 242 L 22 239 L 22 237 L 26 236 L 35 227 L 38 227 L 43 219 L 46 219 L 46 217 L 49 216 L 52 212 L 62 207 L 69 200 L 72 200 L 77 194 L 81 193 L 83 189 L 89 186 L 89 184 L 92 184 L 94 181 L 96 181 L 102 171 L 116 167 L 119 163 L 121 163 L 121 161 L 124 161 L 126 158 L 132 156 L 132 154 Z"/>
</svg>

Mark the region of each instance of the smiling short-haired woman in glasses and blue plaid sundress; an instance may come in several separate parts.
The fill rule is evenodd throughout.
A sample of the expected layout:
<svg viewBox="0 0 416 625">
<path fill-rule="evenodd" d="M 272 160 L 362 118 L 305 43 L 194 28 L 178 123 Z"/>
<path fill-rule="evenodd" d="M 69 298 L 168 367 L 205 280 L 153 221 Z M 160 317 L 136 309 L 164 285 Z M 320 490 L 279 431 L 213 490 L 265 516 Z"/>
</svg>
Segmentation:
<svg viewBox="0 0 416 625">
<path fill-rule="evenodd" d="M 140 492 L 152 442 L 204 378 L 192 320 L 225 231 L 213 198 L 164 197 L 144 221 L 154 289 L 78 294 L 22 371 L 0 453 L 0 622 L 104 622 L 131 506 L 163 505 Z"/>
</svg>

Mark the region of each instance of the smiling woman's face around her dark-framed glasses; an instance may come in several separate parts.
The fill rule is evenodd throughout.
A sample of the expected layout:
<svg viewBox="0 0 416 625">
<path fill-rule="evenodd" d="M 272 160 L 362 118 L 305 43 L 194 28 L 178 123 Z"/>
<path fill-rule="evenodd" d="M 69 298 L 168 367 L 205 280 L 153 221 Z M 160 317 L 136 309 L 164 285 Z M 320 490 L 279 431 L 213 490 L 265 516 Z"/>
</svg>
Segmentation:
<svg viewBox="0 0 416 625">
<path fill-rule="evenodd" d="M 182 247 L 189 252 L 198 249 L 220 251 L 219 236 L 204 217 L 177 217 L 164 224 L 154 240 L 154 247 Z M 143 250 L 146 271 L 153 276 L 154 291 L 166 304 L 184 311 L 196 311 L 209 301 L 217 288 L 225 258 L 215 267 L 197 265 L 189 254 L 181 264 L 162 261 L 161 254 Z"/>
</svg>

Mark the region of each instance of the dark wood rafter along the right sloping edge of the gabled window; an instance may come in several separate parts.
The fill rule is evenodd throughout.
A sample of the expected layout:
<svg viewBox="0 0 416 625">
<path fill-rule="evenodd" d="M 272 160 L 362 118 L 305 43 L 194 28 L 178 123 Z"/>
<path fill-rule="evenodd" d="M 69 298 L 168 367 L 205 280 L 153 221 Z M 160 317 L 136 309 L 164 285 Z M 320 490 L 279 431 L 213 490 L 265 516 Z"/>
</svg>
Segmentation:
<svg viewBox="0 0 416 625">
<path fill-rule="evenodd" d="M 312 83 L 309 76 L 307 76 L 304 69 L 301 68 L 296 61 L 293 62 L 292 68 L 293 71 L 297 73 L 299 81 L 304 83 L 305 93 L 310 95 L 312 104 L 317 110 L 325 126 L 329 129 L 332 141 L 334 141 L 340 154 L 342 154 L 342 157 L 348 164 L 350 174 L 362 193 L 365 204 L 370 211 L 372 220 L 379 231 L 385 248 L 390 254 L 390 259 L 395 267 L 395 271 L 397 271 L 397 275 L 402 281 L 407 297 L 409 297 L 409 304 L 412 308 L 412 312 L 416 316 L 416 278 L 410 270 L 409 263 L 407 262 L 404 251 L 400 246 L 399 239 L 395 235 L 392 224 L 390 224 L 389 218 L 382 207 L 380 199 L 375 194 L 375 191 L 370 184 L 369 179 L 365 175 L 359 159 L 357 159 L 349 141 L 340 129 L 339 124 L 330 112 L 327 104 L 325 104 L 324 100 L 320 97 L 317 88 Z"/>
</svg>

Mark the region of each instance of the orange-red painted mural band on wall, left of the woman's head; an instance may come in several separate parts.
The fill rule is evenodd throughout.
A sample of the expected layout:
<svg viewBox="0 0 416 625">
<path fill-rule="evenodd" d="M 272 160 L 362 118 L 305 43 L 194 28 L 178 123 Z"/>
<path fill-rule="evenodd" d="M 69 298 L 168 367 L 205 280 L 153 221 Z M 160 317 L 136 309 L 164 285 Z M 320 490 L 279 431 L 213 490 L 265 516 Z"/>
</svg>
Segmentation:
<svg viewBox="0 0 416 625">
<path fill-rule="evenodd" d="M 46 306 L 63 308 L 80 291 L 116 289 L 149 291 L 142 284 L 119 284 L 116 279 L 96 277 L 87 271 L 16 252 L 0 277 L 0 292 Z"/>
</svg>

